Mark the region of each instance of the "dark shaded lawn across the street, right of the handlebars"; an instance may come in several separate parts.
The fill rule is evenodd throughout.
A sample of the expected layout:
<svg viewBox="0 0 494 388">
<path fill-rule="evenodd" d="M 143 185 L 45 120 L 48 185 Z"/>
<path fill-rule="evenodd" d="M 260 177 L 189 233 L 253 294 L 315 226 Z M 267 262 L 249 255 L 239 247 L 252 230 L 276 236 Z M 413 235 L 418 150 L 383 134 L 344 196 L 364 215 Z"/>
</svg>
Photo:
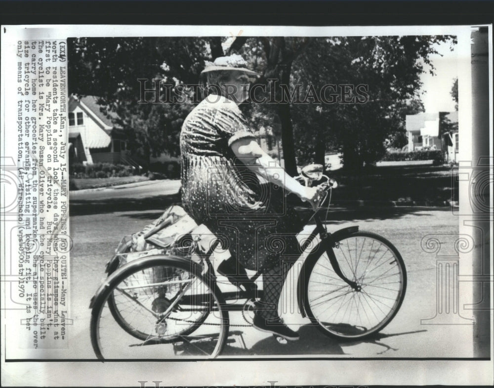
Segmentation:
<svg viewBox="0 0 494 388">
<path fill-rule="evenodd" d="M 377 201 L 457 201 L 458 169 L 447 166 L 373 167 L 361 175 L 329 173 L 338 181 L 335 199 Z"/>
</svg>

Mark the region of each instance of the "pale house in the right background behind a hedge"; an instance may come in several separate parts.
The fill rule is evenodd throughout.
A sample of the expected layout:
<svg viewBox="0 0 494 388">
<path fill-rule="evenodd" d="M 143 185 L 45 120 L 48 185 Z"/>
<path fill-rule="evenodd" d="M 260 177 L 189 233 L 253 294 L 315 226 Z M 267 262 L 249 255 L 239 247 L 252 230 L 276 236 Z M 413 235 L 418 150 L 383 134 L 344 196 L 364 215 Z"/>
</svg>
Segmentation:
<svg viewBox="0 0 494 388">
<path fill-rule="evenodd" d="M 406 116 L 408 151 L 442 150 L 445 160 L 458 154 L 458 112 L 417 113 Z"/>
</svg>

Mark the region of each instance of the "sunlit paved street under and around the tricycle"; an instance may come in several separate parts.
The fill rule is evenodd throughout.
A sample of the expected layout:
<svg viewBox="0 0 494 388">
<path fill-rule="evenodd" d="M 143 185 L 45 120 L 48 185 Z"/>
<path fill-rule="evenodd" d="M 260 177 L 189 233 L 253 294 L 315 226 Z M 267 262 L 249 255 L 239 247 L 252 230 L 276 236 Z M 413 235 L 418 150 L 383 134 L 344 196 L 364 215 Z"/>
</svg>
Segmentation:
<svg viewBox="0 0 494 388">
<path fill-rule="evenodd" d="M 121 237 L 140 230 L 160 216 L 173 200 L 176 181 L 153 181 L 128 188 L 71 193 L 70 229 L 74 240 L 71 253 L 70 318 L 74 319 L 71 348 L 75 358 L 93 358 L 89 338 L 89 300 L 104 276 L 104 264 L 112 257 Z M 333 193 L 337 196 L 337 191 Z M 171 198 L 171 199 L 170 199 Z M 246 349 L 236 354 L 307 354 L 328 357 L 471 357 L 469 325 L 421 325 L 420 320 L 436 315 L 436 256 L 424 252 L 424 236 L 440 235 L 441 243 L 452 244 L 458 220 L 450 208 L 354 208 L 333 209 L 331 230 L 360 225 L 393 242 L 407 265 L 408 289 L 394 320 L 377 340 L 342 343 L 325 337 L 308 325 L 307 319 L 287 313 L 285 321 L 299 330 L 301 339 L 279 344 L 271 335 L 250 327 L 241 330 Z M 450 249 L 450 248 L 447 248 Z M 454 252 L 453 247 L 451 251 Z M 222 289 L 230 288 L 221 285 Z M 289 289 L 289 284 L 285 292 Z M 285 294 L 285 298 L 289 298 Z M 294 301 L 290 302 L 294 303 Z M 230 313 L 232 325 L 245 324 L 240 313 Z M 234 346 L 240 346 L 234 344 Z M 226 350 L 228 352 L 228 348 Z"/>
</svg>

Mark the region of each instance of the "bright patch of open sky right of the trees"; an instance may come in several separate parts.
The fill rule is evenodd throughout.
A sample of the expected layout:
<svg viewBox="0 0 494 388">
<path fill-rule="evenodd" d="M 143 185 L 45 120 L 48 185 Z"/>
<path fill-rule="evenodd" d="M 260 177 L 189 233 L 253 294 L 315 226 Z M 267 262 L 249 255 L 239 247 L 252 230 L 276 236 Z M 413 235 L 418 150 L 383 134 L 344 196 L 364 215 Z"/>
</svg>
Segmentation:
<svg viewBox="0 0 494 388">
<path fill-rule="evenodd" d="M 436 68 L 436 75 L 432 76 L 428 73 L 429 67 L 424 67 L 427 73 L 423 73 L 421 76 L 422 91 L 425 92 L 421 98 L 426 112 L 452 112 L 455 102 L 450 91 L 454 79 L 458 77 L 457 49 L 454 46 L 453 51 L 451 51 L 450 43 L 442 43 L 438 46 L 438 51 L 443 56 L 439 54 L 431 56 Z"/>
</svg>

